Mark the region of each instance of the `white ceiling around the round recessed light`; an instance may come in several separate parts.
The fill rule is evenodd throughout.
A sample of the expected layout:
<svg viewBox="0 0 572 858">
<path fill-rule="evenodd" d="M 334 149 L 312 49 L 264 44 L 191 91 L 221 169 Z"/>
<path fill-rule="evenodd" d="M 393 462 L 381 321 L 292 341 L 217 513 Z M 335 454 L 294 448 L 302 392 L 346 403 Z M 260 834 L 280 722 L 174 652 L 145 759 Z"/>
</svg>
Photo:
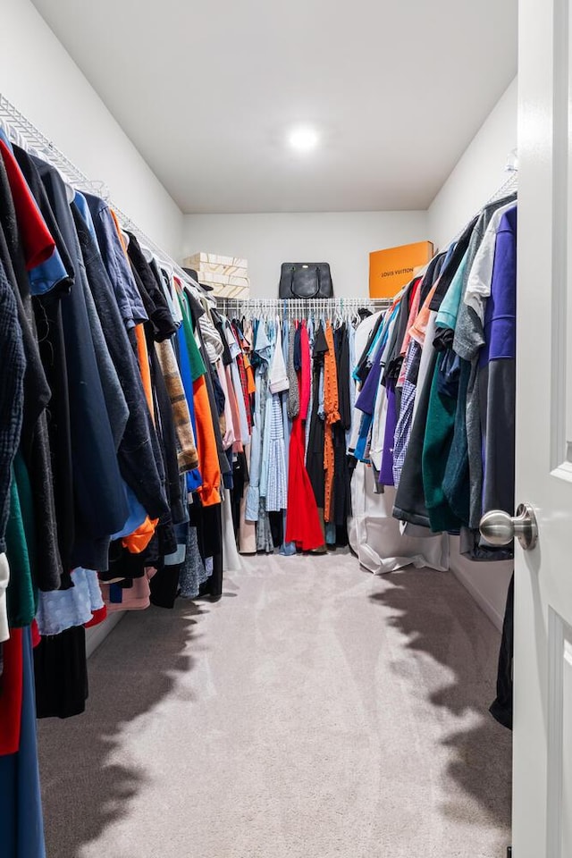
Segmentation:
<svg viewBox="0 0 572 858">
<path fill-rule="evenodd" d="M 517 0 L 34 3 L 186 213 L 425 209 L 517 72 Z"/>
</svg>

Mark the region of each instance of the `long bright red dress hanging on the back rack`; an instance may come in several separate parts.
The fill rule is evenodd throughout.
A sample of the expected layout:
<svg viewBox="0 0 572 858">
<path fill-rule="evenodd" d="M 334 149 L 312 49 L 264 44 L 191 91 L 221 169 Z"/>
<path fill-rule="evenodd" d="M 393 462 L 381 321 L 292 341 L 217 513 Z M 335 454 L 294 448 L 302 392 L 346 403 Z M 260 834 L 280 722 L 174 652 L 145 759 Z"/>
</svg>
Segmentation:
<svg viewBox="0 0 572 858">
<path fill-rule="evenodd" d="M 296 543 L 302 551 L 313 551 L 324 544 L 324 533 L 315 503 L 314 490 L 307 475 L 306 432 L 304 425 L 310 404 L 310 341 L 306 323 L 300 331 L 302 368 L 298 374 L 300 390 L 299 415 L 292 421 L 290 434 L 290 467 L 288 474 L 288 510 L 286 542 Z"/>
</svg>

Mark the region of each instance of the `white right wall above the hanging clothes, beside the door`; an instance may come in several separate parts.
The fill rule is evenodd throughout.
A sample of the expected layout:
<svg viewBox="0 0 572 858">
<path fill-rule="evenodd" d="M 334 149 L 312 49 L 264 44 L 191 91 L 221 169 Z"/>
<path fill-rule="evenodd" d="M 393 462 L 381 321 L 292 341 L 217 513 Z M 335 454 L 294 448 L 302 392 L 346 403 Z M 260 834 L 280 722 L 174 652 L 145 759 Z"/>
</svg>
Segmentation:
<svg viewBox="0 0 572 858">
<path fill-rule="evenodd" d="M 517 78 L 502 95 L 429 207 L 429 234 L 446 245 L 507 181 L 509 152 L 517 147 Z"/>
</svg>

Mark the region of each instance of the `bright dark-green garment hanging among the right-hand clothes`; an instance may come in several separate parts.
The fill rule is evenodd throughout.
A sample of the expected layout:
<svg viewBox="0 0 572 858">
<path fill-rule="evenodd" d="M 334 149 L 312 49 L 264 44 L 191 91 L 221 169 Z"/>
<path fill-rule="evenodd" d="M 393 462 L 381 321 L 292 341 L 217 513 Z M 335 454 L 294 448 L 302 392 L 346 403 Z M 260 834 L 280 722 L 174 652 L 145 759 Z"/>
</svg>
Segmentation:
<svg viewBox="0 0 572 858">
<path fill-rule="evenodd" d="M 425 441 L 423 444 L 423 491 L 433 533 L 457 531 L 461 523 L 450 509 L 443 491 L 443 477 L 453 441 L 457 400 L 439 390 L 439 374 L 445 352 L 439 355 L 433 372 Z"/>
</svg>

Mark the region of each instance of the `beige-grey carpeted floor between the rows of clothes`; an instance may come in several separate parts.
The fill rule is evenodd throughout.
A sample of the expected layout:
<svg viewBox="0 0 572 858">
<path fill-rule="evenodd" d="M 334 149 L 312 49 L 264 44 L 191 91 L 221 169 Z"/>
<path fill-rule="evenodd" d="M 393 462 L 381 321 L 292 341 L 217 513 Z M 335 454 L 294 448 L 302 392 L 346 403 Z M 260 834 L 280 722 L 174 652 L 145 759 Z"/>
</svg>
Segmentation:
<svg viewBox="0 0 572 858">
<path fill-rule="evenodd" d="M 245 567 L 123 619 L 40 723 L 48 858 L 504 858 L 499 635 L 457 580 Z"/>
</svg>

